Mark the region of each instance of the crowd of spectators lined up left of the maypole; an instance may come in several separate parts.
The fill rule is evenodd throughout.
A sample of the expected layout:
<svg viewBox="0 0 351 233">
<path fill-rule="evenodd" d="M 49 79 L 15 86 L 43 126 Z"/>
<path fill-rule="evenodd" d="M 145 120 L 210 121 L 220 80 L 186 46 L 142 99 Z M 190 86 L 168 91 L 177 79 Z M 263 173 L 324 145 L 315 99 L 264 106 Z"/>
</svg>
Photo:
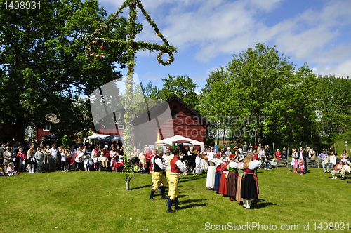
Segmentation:
<svg viewBox="0 0 351 233">
<path fill-rule="evenodd" d="M 7 142 L 0 147 L 0 175 L 49 171 L 122 171 L 124 148 L 121 142 L 110 145 L 82 143 L 64 148 L 55 144 L 27 140 Z"/>
</svg>

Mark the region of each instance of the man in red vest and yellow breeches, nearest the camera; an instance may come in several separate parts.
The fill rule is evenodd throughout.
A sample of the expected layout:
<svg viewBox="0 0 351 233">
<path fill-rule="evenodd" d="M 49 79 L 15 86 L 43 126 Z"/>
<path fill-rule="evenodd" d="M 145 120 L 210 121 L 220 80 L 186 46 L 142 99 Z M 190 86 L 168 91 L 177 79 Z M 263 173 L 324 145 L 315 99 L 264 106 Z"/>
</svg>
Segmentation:
<svg viewBox="0 0 351 233">
<path fill-rule="evenodd" d="M 169 185 L 169 192 L 168 192 L 168 201 L 167 201 L 167 213 L 174 213 L 175 211 L 172 210 L 172 204 L 174 203 L 174 206 L 176 209 L 180 209 L 180 206 L 178 206 L 178 180 L 179 180 L 179 175 L 180 173 L 183 173 L 185 171 L 186 167 L 182 163 L 182 161 L 179 160 L 179 147 L 176 147 L 176 149 L 173 150 L 173 159 L 170 161 L 170 166 L 171 166 L 171 172 L 169 173 L 168 176 L 168 185 Z"/>
</svg>

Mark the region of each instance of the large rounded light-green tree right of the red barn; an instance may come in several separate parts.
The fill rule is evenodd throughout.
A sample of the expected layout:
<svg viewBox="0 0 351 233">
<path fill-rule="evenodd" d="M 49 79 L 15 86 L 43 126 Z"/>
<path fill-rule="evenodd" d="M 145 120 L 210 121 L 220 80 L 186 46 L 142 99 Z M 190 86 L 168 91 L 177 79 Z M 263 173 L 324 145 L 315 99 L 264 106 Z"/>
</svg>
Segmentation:
<svg viewBox="0 0 351 233">
<path fill-rule="evenodd" d="M 215 74 L 201 91 L 201 100 L 206 100 L 201 108 L 220 114 L 232 138 L 256 137 L 257 142 L 313 138 L 316 116 L 309 89 L 315 75 L 307 65 L 296 69 L 275 46 L 256 44 L 233 55 L 226 70 Z"/>
</svg>

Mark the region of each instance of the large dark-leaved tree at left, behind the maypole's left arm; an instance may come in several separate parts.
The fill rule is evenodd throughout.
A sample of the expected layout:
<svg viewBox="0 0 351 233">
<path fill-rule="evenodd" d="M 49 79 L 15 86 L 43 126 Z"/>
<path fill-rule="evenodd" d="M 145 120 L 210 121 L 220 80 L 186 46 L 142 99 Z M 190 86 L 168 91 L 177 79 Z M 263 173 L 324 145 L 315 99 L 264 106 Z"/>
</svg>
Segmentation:
<svg viewBox="0 0 351 233">
<path fill-rule="evenodd" d="M 15 129 L 16 140 L 23 140 L 29 124 L 46 123 L 50 114 L 59 118 L 56 131 L 79 131 L 91 122 L 81 96 L 121 76 L 116 58 L 121 67 L 126 62 L 125 49 L 108 45 L 103 49 L 110 55 L 103 60 L 84 54 L 85 35 L 106 15 L 96 0 L 41 1 L 40 9 L 29 10 L 0 8 L 0 119 Z M 105 33 L 125 39 L 126 20 L 113 20 L 114 28 Z"/>
</svg>

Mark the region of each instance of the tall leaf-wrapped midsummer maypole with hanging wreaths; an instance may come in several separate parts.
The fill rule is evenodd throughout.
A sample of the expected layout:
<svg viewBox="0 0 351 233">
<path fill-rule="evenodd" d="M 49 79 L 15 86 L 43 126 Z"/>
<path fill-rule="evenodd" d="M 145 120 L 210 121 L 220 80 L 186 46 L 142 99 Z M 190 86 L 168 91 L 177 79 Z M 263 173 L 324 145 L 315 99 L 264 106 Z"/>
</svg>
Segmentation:
<svg viewBox="0 0 351 233">
<path fill-rule="evenodd" d="M 113 23 L 113 20 L 118 18 L 119 13 L 121 13 L 124 8 L 129 8 L 129 15 L 128 15 L 128 24 L 127 24 L 127 38 L 126 40 L 116 40 L 116 39 L 109 39 L 107 37 L 99 37 L 102 31 L 108 30 L 108 26 Z M 151 44 L 145 41 L 135 41 L 135 36 L 138 34 L 138 24 L 136 22 L 138 16 L 138 9 L 141 13 L 145 16 L 145 19 L 154 29 L 155 34 L 162 41 L 164 44 Z M 104 58 L 104 46 L 108 44 L 109 46 L 117 46 L 118 48 L 124 48 L 126 50 L 126 65 L 127 65 L 127 77 L 126 77 L 126 94 L 124 96 L 124 107 L 125 107 L 125 114 L 124 114 L 124 149 L 125 149 L 125 156 L 124 156 L 124 172 L 126 173 L 126 189 L 129 189 L 129 182 L 132 178 L 132 164 L 131 164 L 131 153 L 133 152 L 133 110 L 135 110 L 135 106 L 133 106 L 133 86 L 134 86 L 134 67 L 135 63 L 135 54 L 139 50 L 149 50 L 149 51 L 161 51 L 157 55 L 157 61 L 161 65 L 170 65 L 174 60 L 173 53 L 176 52 L 176 48 L 170 46 L 168 41 L 164 36 L 159 32 L 157 25 L 154 21 L 150 18 L 150 15 L 145 11 L 144 6 L 141 0 L 126 0 L 124 4 L 121 5 L 121 8 L 111 15 L 105 22 L 102 22 L 100 27 L 96 29 L 93 34 L 86 36 L 88 41 L 88 45 L 85 47 L 86 49 L 86 56 L 91 60 L 95 59 L 102 59 Z M 168 60 L 164 61 L 161 59 L 161 56 L 164 53 L 168 54 Z"/>
</svg>

